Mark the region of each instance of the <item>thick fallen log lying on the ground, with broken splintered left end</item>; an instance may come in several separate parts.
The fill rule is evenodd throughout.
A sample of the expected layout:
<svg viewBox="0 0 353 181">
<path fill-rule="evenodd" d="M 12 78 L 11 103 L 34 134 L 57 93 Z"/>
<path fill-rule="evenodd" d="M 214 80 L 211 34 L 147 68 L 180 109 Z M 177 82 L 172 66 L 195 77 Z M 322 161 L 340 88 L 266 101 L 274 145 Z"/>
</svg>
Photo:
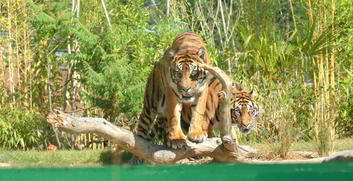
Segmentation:
<svg viewBox="0 0 353 181">
<path fill-rule="evenodd" d="M 193 156 L 210 156 L 221 162 L 237 161 L 239 154 L 223 147 L 220 138 L 208 138 L 203 143 L 187 141 L 184 150 L 175 150 L 167 145 L 156 145 L 133 134 L 127 129 L 118 127 L 103 118 L 73 117 L 54 109 L 47 117 L 47 122 L 62 131 L 72 134 L 95 133 L 119 146 L 153 163 L 174 163 L 180 159 Z M 240 147 L 245 150 L 246 147 Z"/>
</svg>

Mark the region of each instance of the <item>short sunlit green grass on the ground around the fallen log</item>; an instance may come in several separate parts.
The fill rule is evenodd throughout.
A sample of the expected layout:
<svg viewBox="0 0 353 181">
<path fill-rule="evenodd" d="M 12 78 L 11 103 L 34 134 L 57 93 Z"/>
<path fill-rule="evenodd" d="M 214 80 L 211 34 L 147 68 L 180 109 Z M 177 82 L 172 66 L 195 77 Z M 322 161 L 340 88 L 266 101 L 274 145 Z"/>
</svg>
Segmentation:
<svg viewBox="0 0 353 181">
<path fill-rule="evenodd" d="M 245 138 L 239 140 L 242 145 L 250 145 L 256 148 L 264 148 L 269 143 L 255 143 Z M 334 151 L 353 150 L 353 138 L 337 139 L 333 142 Z M 293 143 L 293 151 L 315 152 L 315 143 L 296 141 Z M 263 150 L 265 151 L 265 150 Z M 26 167 L 102 167 L 112 164 L 114 149 L 104 150 L 57 150 L 49 151 L 23 151 L 0 149 L 0 168 L 26 168 Z M 127 163 L 132 154 L 122 151 L 120 162 Z M 2 167 L 1 167 L 2 164 Z M 4 167 L 4 165 L 6 167 Z"/>
</svg>

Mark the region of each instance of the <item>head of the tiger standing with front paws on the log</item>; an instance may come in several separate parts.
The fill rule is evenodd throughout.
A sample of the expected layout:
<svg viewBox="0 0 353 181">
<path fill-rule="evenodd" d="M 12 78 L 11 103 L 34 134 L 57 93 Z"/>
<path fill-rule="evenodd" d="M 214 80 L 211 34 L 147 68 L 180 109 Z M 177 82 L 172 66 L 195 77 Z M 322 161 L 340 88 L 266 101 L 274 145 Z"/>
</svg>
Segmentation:
<svg viewBox="0 0 353 181">
<path fill-rule="evenodd" d="M 204 63 L 205 48 L 181 49 L 174 54 L 171 50 L 170 77 L 175 84 L 174 91 L 178 91 L 183 102 L 193 102 L 200 92 L 205 89 L 208 74 L 203 68 L 198 67 L 198 62 Z"/>
</svg>

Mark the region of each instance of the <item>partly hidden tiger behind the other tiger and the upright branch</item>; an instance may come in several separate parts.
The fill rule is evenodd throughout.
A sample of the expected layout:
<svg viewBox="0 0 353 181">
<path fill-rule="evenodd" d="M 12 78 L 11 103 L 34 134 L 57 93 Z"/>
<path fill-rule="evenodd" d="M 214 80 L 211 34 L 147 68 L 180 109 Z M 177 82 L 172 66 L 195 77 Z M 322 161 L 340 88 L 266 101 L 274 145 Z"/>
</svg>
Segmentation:
<svg viewBox="0 0 353 181">
<path fill-rule="evenodd" d="M 256 118 L 260 114 L 260 107 L 254 99 L 253 91 L 248 91 L 244 86 L 235 83 L 236 87 L 233 89 L 233 96 L 231 98 L 231 119 L 232 126 L 238 127 L 241 133 L 247 134 L 253 128 Z M 208 133 L 208 138 L 212 138 L 212 131 L 214 128 L 219 129 L 219 98 L 217 93 L 222 89 L 221 82 L 215 77 L 211 76 L 208 89 L 206 109 L 203 116 L 202 129 Z M 192 112 L 190 104 L 185 104 L 181 111 L 181 126 L 185 133 L 188 131 L 190 125 L 190 118 Z M 154 130 L 150 135 L 150 139 L 158 134 L 159 138 L 166 138 L 168 135 L 167 129 L 164 129 L 166 120 L 158 120 L 154 126 Z"/>
</svg>

